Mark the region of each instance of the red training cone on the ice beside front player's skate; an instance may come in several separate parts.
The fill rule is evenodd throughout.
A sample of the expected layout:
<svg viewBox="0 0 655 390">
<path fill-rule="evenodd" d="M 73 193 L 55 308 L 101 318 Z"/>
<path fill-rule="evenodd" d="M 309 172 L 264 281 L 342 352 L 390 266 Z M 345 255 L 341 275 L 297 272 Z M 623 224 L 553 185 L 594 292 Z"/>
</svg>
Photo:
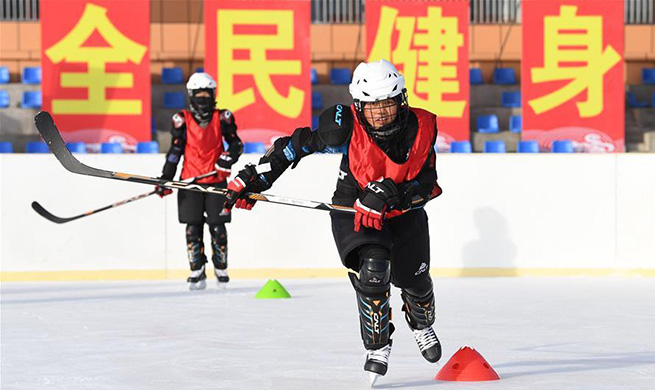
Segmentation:
<svg viewBox="0 0 655 390">
<path fill-rule="evenodd" d="M 491 365 L 471 347 L 462 347 L 434 378 L 438 381 L 495 381 L 500 379 Z"/>
</svg>

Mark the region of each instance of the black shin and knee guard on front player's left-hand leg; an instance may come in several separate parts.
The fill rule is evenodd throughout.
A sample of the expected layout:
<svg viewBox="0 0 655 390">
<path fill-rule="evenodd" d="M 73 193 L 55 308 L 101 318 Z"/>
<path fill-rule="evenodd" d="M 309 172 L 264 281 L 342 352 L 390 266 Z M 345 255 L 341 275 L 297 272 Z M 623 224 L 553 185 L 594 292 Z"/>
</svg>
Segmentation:
<svg viewBox="0 0 655 390">
<path fill-rule="evenodd" d="M 366 349 L 378 349 L 389 344 L 393 329 L 389 297 L 391 290 L 391 262 L 364 259 L 359 278 L 348 274 L 357 294 L 362 341 Z"/>
</svg>

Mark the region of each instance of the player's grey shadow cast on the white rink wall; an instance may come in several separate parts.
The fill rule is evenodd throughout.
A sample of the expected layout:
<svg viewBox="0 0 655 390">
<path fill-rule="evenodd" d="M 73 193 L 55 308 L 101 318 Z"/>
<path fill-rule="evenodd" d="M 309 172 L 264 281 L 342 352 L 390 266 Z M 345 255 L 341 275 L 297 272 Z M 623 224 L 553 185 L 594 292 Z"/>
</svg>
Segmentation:
<svg viewBox="0 0 655 390">
<path fill-rule="evenodd" d="M 517 247 L 505 217 L 495 209 L 485 207 L 475 210 L 473 219 L 479 237 L 464 246 L 464 267 L 459 276 L 517 276 L 514 264 Z"/>
</svg>

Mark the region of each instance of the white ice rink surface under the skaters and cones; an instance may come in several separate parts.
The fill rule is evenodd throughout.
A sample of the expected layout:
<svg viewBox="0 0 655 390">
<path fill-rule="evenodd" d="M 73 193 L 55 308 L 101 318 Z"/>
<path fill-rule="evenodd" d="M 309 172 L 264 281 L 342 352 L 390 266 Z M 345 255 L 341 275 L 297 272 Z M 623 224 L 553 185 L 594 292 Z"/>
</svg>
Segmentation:
<svg viewBox="0 0 655 390">
<path fill-rule="evenodd" d="M 1 388 L 365 389 L 354 292 L 343 279 L 3 283 Z M 623 278 L 435 279 L 444 364 L 475 347 L 502 377 L 437 382 L 393 289 L 380 389 L 655 389 L 655 283 Z"/>
</svg>

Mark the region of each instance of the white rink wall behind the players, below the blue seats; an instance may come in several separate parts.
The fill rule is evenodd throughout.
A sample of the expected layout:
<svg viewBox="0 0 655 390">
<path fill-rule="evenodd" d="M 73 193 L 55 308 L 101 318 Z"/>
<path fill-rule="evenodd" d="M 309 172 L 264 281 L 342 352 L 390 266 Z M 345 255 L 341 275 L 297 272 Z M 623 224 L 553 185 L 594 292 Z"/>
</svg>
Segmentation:
<svg viewBox="0 0 655 390">
<path fill-rule="evenodd" d="M 163 155 L 79 155 L 157 176 Z M 242 166 L 259 156 L 246 155 Z M 269 192 L 329 201 L 340 156 L 311 156 Z M 238 167 L 237 167 L 238 168 Z M 655 269 L 655 155 L 438 157 L 444 194 L 426 210 L 433 268 Z M 16 272 L 186 268 L 176 196 L 156 196 L 56 225 L 150 187 L 71 174 L 51 155 L 0 155 L 0 269 Z M 338 268 L 328 213 L 259 203 L 228 225 L 230 267 Z M 206 242 L 209 238 L 206 235 Z"/>
</svg>

